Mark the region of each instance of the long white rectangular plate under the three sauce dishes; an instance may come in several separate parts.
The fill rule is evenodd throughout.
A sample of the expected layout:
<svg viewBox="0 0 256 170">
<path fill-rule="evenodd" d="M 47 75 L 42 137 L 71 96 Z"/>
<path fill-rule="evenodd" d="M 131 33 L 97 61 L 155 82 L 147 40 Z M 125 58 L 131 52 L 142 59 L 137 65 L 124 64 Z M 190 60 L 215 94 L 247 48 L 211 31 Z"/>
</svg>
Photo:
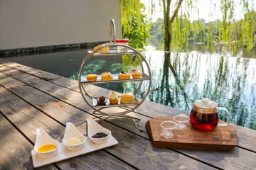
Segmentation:
<svg viewBox="0 0 256 170">
<path fill-rule="evenodd" d="M 106 143 L 100 144 L 100 145 L 92 143 L 92 141 L 89 139 L 89 137 L 86 137 L 86 138 L 87 138 L 87 140 L 85 142 L 85 147 L 83 147 L 82 149 L 80 149 L 78 151 L 69 151 L 68 149 L 65 149 L 65 146 L 63 145 L 63 143 L 60 143 L 60 148 L 59 148 L 58 154 L 56 154 L 54 157 L 49 158 L 49 159 L 43 159 L 41 157 L 38 157 L 36 152 L 34 150 L 31 150 L 34 168 L 44 166 L 47 164 L 51 164 L 53 162 L 59 162 L 64 159 L 76 157 L 81 154 L 86 154 L 89 152 L 93 152 L 93 151 L 96 151 L 99 149 L 103 149 L 105 147 L 110 147 L 110 146 L 118 144 L 117 140 L 114 139 L 114 137 L 112 135 L 110 135 L 110 138 Z"/>
</svg>

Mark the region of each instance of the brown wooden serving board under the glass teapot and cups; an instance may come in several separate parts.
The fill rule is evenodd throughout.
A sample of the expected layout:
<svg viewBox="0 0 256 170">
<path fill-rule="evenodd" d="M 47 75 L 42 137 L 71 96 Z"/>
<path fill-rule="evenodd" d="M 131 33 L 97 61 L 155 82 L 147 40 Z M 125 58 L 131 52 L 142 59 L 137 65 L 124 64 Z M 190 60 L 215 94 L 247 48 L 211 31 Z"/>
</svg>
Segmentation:
<svg viewBox="0 0 256 170">
<path fill-rule="evenodd" d="M 196 130 L 191 126 L 188 130 L 177 130 L 174 138 L 165 139 L 159 132 L 159 125 L 165 120 L 173 120 L 173 117 L 161 116 L 146 123 L 154 147 L 228 151 L 237 145 L 237 129 L 233 125 L 217 126 L 210 131 Z"/>
</svg>

